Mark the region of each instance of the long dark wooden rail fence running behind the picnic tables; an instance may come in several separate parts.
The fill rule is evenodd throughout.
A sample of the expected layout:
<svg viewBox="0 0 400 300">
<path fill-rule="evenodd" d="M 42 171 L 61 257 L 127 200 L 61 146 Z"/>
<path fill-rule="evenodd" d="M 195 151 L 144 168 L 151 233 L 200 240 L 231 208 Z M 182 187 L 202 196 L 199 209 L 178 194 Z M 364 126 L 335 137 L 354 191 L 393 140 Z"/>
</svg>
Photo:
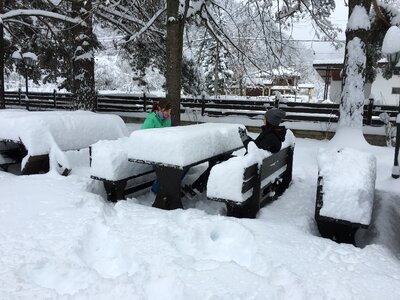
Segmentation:
<svg viewBox="0 0 400 300">
<path fill-rule="evenodd" d="M 37 93 L 29 92 L 29 99 L 25 93 L 5 92 L 6 108 L 25 107 L 29 110 L 72 109 L 70 93 Z M 143 95 L 126 94 L 99 94 L 96 99 L 96 110 L 99 112 L 144 112 L 151 109 L 153 101 L 163 100 L 160 97 L 149 98 Z M 279 107 L 286 112 L 287 121 L 309 122 L 337 122 L 339 119 L 338 104 L 320 104 L 304 102 L 277 102 L 266 98 L 257 100 L 241 99 L 206 99 L 182 98 L 181 111 L 194 110 L 202 116 L 248 116 L 262 118 L 265 110 Z M 379 114 L 386 112 L 391 118 L 398 113 L 397 106 L 374 105 L 373 99 L 364 105 L 364 124 L 382 126 Z"/>
</svg>

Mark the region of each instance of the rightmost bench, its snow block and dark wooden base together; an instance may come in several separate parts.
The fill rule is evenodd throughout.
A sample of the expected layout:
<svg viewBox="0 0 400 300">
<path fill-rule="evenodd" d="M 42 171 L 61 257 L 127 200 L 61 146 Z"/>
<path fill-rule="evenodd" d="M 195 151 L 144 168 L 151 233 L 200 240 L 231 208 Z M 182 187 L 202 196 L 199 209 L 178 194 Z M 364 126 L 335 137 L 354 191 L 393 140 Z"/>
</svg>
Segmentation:
<svg viewBox="0 0 400 300">
<path fill-rule="evenodd" d="M 372 154 L 344 148 L 318 154 L 315 220 L 322 237 L 355 244 L 358 229 L 371 222 L 376 159 Z"/>
</svg>

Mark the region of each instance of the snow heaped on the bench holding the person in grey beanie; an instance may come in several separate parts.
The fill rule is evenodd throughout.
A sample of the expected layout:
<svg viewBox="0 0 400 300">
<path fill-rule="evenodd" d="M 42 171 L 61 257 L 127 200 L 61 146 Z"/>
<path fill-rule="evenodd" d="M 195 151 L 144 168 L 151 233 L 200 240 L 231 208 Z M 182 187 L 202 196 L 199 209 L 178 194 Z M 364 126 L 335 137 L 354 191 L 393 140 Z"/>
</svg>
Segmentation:
<svg viewBox="0 0 400 300">
<path fill-rule="evenodd" d="M 287 130 L 282 149 L 294 146 L 294 141 L 293 133 Z M 248 153 L 245 156 L 233 157 L 214 166 L 207 182 L 207 197 L 229 199 L 236 202 L 247 200 L 252 195 L 253 189 L 242 194 L 245 169 L 254 164 L 258 164 L 260 168 L 262 161 L 270 155 L 271 152 L 259 149 L 253 142 L 250 142 Z"/>
</svg>

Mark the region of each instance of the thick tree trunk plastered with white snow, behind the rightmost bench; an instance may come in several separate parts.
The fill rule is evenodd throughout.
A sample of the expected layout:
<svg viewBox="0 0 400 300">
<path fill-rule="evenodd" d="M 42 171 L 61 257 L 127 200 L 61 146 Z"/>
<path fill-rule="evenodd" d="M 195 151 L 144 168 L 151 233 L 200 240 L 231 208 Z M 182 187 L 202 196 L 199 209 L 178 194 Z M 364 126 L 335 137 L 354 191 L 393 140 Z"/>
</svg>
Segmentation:
<svg viewBox="0 0 400 300">
<path fill-rule="evenodd" d="M 350 0 L 349 20 L 354 9 L 361 8 L 369 14 L 371 0 Z M 360 15 L 359 13 L 357 15 Z M 349 22 L 348 24 L 350 24 Z M 342 79 L 342 94 L 340 99 L 339 127 L 362 128 L 364 88 L 366 81 L 366 43 L 368 42 L 368 22 L 361 22 L 346 30 L 346 50 Z M 361 131 L 361 130 L 360 130 Z"/>
</svg>

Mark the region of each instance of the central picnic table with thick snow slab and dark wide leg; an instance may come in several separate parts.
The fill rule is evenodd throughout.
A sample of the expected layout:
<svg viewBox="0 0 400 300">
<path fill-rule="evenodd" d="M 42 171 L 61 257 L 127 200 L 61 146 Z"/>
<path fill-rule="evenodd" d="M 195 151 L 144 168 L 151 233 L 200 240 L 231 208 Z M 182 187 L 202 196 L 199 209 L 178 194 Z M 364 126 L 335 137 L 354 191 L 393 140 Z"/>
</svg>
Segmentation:
<svg viewBox="0 0 400 300">
<path fill-rule="evenodd" d="M 243 147 L 239 124 L 198 124 L 134 131 L 137 141 L 128 153 L 130 162 L 152 165 L 158 180 L 153 203 L 162 209 L 182 208 L 181 181 L 187 170 L 208 162 L 225 160 Z"/>
</svg>

